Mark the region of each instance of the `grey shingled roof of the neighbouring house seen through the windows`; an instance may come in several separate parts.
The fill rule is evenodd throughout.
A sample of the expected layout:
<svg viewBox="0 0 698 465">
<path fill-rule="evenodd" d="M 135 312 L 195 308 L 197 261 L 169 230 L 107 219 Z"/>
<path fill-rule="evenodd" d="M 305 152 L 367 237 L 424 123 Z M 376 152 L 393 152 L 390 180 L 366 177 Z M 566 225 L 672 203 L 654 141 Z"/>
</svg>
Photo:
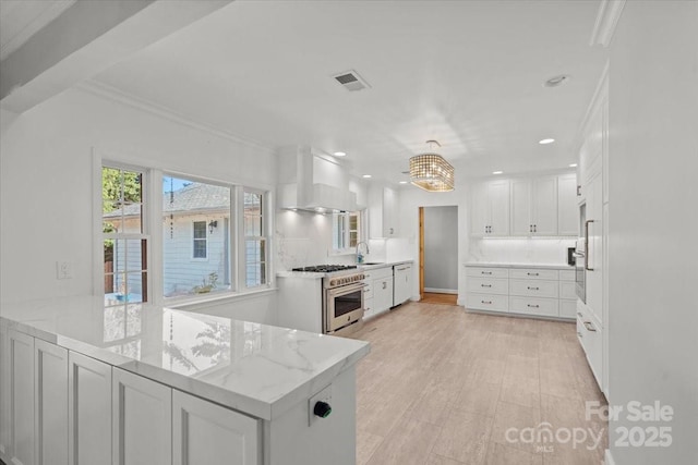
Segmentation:
<svg viewBox="0 0 698 465">
<path fill-rule="evenodd" d="M 163 213 L 230 210 L 230 188 L 212 184 L 191 183 L 178 191 L 163 194 Z M 140 205 L 127 205 L 106 212 L 103 218 L 137 217 Z"/>
</svg>

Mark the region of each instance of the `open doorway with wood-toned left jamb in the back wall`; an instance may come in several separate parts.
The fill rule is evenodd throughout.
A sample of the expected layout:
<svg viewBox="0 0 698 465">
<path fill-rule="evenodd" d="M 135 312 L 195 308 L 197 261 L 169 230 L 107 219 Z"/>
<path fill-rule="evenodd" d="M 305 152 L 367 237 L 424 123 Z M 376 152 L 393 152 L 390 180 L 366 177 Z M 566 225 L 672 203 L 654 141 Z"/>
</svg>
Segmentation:
<svg viewBox="0 0 698 465">
<path fill-rule="evenodd" d="M 457 206 L 419 208 L 419 264 L 421 302 L 457 305 Z"/>
</svg>

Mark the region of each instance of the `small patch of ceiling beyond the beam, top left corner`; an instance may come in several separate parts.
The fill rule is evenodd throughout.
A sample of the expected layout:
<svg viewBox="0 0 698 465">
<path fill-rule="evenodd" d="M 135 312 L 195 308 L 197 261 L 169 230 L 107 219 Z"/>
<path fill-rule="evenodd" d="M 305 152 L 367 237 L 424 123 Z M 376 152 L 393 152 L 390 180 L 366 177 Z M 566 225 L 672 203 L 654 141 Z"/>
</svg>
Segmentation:
<svg viewBox="0 0 698 465">
<path fill-rule="evenodd" d="M 75 0 L 0 0 L 0 60 L 73 3 Z"/>
</svg>

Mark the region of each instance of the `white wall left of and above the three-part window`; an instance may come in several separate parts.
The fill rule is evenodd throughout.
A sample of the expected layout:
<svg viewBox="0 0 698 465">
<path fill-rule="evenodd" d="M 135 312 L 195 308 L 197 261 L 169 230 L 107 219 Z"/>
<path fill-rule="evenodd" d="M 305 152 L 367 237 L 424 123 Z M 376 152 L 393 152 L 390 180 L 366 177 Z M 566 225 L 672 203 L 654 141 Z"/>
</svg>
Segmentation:
<svg viewBox="0 0 698 465">
<path fill-rule="evenodd" d="M 84 90 L 0 117 L 2 303 L 92 293 L 94 149 L 220 181 L 276 185 L 270 150 Z M 57 260 L 72 261 L 73 279 L 56 279 Z M 242 305 L 230 306 L 231 316 Z"/>
</svg>

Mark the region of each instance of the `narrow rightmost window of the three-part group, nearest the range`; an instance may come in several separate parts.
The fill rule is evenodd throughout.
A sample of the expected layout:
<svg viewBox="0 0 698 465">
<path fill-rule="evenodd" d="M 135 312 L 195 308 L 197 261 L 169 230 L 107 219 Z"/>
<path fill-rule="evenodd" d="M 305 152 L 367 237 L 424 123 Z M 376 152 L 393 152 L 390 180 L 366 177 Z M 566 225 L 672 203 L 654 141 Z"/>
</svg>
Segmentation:
<svg viewBox="0 0 698 465">
<path fill-rule="evenodd" d="M 245 286 L 266 284 L 267 237 L 264 224 L 264 195 L 244 191 Z"/>
</svg>

